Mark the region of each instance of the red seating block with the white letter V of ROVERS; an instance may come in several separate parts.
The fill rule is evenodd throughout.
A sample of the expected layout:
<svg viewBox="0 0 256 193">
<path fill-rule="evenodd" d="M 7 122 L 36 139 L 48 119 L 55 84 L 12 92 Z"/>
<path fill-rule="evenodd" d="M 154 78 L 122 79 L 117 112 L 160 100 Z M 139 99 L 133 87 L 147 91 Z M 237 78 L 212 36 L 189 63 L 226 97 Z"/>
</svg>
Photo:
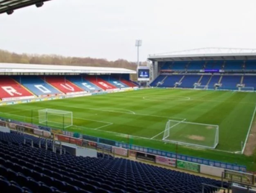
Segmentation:
<svg viewBox="0 0 256 193">
<path fill-rule="evenodd" d="M 63 93 L 74 93 L 74 92 L 82 92 L 85 91 L 80 87 L 76 86 L 69 80 L 66 80 L 63 76 L 45 76 L 46 82 L 51 84 L 54 88 L 58 89 Z"/>
</svg>

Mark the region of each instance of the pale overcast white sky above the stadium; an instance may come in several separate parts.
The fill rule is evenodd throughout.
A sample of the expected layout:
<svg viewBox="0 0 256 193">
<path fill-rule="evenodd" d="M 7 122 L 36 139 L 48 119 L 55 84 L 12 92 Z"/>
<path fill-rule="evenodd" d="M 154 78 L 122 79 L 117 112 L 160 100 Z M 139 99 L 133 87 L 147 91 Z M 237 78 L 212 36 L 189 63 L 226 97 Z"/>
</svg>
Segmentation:
<svg viewBox="0 0 256 193">
<path fill-rule="evenodd" d="M 256 48 L 256 0 L 52 0 L 0 15 L 0 49 L 136 60 L 202 47 Z"/>
</svg>

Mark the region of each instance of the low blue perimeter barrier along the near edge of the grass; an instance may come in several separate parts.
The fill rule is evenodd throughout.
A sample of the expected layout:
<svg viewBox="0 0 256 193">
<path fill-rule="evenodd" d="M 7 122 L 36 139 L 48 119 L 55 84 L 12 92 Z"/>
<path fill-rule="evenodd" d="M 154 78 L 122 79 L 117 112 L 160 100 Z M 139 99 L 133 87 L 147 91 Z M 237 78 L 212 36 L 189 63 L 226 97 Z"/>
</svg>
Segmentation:
<svg viewBox="0 0 256 193">
<path fill-rule="evenodd" d="M 49 130 L 49 128 L 47 128 L 47 127 L 37 126 L 34 124 L 27 124 L 27 123 L 18 122 L 18 121 L 7 120 L 4 118 L 0 118 L 0 119 L 3 120 L 3 121 L 0 121 L 0 126 L 6 125 L 10 129 L 17 129 L 17 127 L 19 127 L 19 129 L 22 128 L 22 129 L 24 129 L 24 131 L 26 131 L 28 133 L 33 133 L 36 135 L 43 135 L 45 137 L 49 137 L 49 135 L 53 135 L 53 134 L 55 134 L 55 135 L 59 134 L 59 135 L 63 135 L 60 138 L 64 142 L 69 142 L 69 143 L 74 143 L 74 144 L 80 145 L 81 143 L 83 143 L 82 141 L 85 140 L 85 141 L 88 141 L 89 146 L 95 146 L 95 143 L 100 143 L 100 144 L 105 144 L 107 146 L 115 147 L 116 149 L 121 148 L 121 149 L 130 150 L 130 151 L 146 153 L 147 155 L 155 155 L 155 156 L 160 157 L 160 158 L 158 158 L 158 161 L 161 158 L 166 158 L 166 162 L 171 163 L 171 159 L 177 159 L 177 160 L 181 160 L 182 162 L 190 162 L 193 164 L 202 164 L 205 166 L 221 168 L 223 170 L 228 169 L 228 170 L 233 170 L 233 171 L 243 171 L 243 172 L 246 171 L 246 166 L 241 166 L 241 165 L 237 165 L 237 164 L 230 164 L 230 163 L 225 163 L 225 162 L 208 160 L 208 159 L 204 159 L 204 158 L 196 158 L 196 157 L 192 157 L 192 156 L 188 156 L 188 155 L 182 155 L 182 154 L 177 154 L 177 153 L 172 153 L 172 152 L 167 152 L 167 151 L 161 151 L 161 150 L 157 150 L 157 149 L 151 149 L 151 148 L 146 148 L 146 147 L 132 145 L 132 144 L 126 144 L 126 143 L 122 143 L 122 142 L 117 142 L 117 141 L 103 139 L 103 138 L 97 138 L 97 137 L 88 136 L 88 135 L 81 135 L 79 133 L 73 133 L 70 131 Z M 164 159 L 162 159 L 162 160 L 164 160 Z M 187 167 L 188 164 L 185 164 L 185 165 Z M 179 164 L 179 166 L 182 167 L 182 164 Z"/>
</svg>

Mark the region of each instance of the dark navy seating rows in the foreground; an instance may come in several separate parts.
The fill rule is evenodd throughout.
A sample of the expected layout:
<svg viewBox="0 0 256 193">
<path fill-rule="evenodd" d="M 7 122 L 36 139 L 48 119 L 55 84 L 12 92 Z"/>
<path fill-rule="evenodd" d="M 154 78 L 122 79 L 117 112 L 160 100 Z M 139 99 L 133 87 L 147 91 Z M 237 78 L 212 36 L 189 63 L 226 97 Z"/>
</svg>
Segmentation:
<svg viewBox="0 0 256 193">
<path fill-rule="evenodd" d="M 60 155 L 22 144 L 24 137 L 38 140 L 0 132 L 1 193 L 200 193 L 202 183 L 221 186 L 218 180 L 123 158 Z"/>
</svg>

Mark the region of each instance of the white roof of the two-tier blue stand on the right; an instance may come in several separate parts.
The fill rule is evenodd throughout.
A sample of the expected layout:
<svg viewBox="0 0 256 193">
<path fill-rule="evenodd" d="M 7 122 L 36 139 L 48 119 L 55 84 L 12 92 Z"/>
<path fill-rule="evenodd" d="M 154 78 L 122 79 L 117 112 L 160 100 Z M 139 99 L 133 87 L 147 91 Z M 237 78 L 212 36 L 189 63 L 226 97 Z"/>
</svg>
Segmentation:
<svg viewBox="0 0 256 193">
<path fill-rule="evenodd" d="M 256 60 L 256 49 L 200 48 L 168 53 L 150 54 L 151 61 L 193 60 Z"/>
</svg>

